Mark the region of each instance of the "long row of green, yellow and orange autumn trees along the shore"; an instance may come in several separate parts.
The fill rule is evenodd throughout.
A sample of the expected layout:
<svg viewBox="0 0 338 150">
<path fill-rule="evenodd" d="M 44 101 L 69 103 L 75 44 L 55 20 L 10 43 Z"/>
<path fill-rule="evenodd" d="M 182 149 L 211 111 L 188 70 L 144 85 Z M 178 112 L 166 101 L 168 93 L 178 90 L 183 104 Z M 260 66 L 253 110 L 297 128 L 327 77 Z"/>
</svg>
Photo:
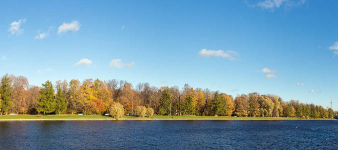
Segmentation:
<svg viewBox="0 0 338 150">
<path fill-rule="evenodd" d="M 332 118 L 331 108 L 283 101 L 273 94 L 252 92 L 235 98 L 219 91 L 177 86 L 150 86 L 139 83 L 135 87 L 125 80 L 88 78 L 46 81 L 41 87 L 30 85 L 25 76 L 4 75 L 0 84 L 0 113 L 17 114 L 105 114 L 117 103 L 124 114 L 145 115 L 147 108 L 159 115 L 217 115 Z M 142 111 L 142 113 L 140 112 Z M 138 114 L 137 114 L 138 113 Z"/>
</svg>

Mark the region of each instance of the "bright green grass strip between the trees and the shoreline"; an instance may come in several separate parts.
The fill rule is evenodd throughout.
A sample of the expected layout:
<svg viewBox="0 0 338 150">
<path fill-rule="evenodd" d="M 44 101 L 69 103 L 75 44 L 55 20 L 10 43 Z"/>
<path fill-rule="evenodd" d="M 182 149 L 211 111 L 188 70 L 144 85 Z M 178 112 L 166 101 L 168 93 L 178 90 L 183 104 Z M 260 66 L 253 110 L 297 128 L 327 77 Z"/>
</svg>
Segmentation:
<svg viewBox="0 0 338 150">
<path fill-rule="evenodd" d="M 104 115 L 0 115 L 0 120 L 4 119 L 111 119 L 111 116 Z M 147 119 L 137 116 L 124 115 L 124 119 Z M 179 116 L 179 115 L 153 115 L 152 119 L 300 119 L 297 117 L 235 117 L 235 116 Z"/>
</svg>

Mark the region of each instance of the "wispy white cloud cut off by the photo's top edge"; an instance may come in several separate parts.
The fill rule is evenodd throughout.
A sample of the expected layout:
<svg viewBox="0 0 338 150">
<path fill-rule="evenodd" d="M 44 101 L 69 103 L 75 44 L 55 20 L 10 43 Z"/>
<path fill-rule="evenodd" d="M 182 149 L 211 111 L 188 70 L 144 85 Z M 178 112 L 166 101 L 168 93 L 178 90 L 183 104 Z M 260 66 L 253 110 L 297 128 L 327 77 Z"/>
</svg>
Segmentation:
<svg viewBox="0 0 338 150">
<path fill-rule="evenodd" d="M 264 0 L 259 1 L 256 4 L 250 5 L 250 6 L 258 6 L 264 9 L 270 9 L 273 10 L 274 8 L 279 8 L 282 5 L 286 8 L 291 8 L 295 6 L 299 6 L 303 4 L 305 0 Z M 248 2 L 247 2 L 248 3 Z"/>
</svg>

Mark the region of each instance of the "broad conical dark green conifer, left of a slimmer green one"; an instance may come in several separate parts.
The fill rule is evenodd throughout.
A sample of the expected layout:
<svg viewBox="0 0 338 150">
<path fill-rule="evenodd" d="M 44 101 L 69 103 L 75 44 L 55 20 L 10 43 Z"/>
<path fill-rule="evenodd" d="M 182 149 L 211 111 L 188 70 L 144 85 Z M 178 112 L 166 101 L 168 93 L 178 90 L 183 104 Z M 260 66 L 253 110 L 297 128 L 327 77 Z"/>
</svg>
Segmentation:
<svg viewBox="0 0 338 150">
<path fill-rule="evenodd" d="M 40 89 L 40 98 L 37 101 L 38 112 L 51 113 L 55 111 L 55 96 L 53 84 L 51 81 L 46 81 L 42 84 L 43 88 Z"/>
</svg>

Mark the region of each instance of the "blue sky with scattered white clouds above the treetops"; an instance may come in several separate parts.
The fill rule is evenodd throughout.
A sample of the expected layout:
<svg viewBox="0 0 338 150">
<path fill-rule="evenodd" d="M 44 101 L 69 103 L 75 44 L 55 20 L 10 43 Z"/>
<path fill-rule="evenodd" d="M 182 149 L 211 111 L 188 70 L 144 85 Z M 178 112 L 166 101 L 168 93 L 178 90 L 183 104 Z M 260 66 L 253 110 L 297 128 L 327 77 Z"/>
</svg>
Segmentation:
<svg viewBox="0 0 338 150">
<path fill-rule="evenodd" d="M 337 0 L 0 2 L 0 74 L 185 83 L 338 109 Z M 298 84 L 298 85 L 297 85 Z M 312 91 L 312 92 L 311 92 Z"/>
</svg>

